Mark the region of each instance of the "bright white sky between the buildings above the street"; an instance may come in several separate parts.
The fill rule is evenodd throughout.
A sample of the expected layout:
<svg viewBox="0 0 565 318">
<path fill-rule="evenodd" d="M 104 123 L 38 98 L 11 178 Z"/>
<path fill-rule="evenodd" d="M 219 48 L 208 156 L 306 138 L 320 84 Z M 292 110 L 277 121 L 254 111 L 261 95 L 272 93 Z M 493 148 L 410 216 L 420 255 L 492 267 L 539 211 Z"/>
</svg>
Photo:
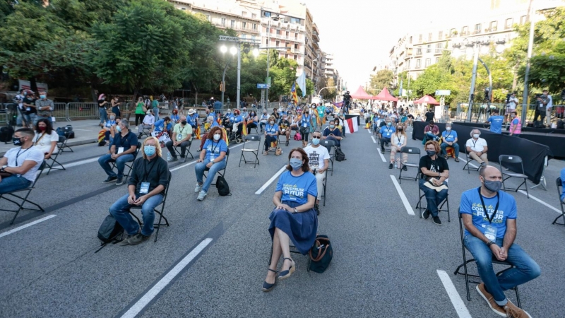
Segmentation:
<svg viewBox="0 0 565 318">
<path fill-rule="evenodd" d="M 304 0 L 320 31 L 320 48 L 351 91 L 365 86 L 374 66 L 409 31 L 489 15 L 490 0 Z M 433 24 L 432 24 L 433 23 Z"/>
</svg>

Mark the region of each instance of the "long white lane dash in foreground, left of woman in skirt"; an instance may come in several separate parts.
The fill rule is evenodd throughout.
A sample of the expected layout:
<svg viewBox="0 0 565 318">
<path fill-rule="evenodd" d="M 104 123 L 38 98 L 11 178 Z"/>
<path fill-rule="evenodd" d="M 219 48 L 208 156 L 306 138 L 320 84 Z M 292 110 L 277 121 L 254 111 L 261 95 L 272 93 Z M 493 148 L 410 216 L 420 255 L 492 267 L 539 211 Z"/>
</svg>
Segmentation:
<svg viewBox="0 0 565 318">
<path fill-rule="evenodd" d="M 141 312 L 141 310 L 143 310 L 143 308 L 145 308 L 145 306 L 147 306 L 148 303 L 153 300 L 153 298 L 155 298 L 155 296 L 157 296 L 157 294 L 160 293 L 163 288 L 167 287 L 167 285 L 175 276 L 177 276 L 188 264 L 190 264 L 190 262 L 195 257 L 198 256 L 198 254 L 200 254 L 200 252 L 203 251 L 206 246 L 210 244 L 210 242 L 212 242 L 212 239 L 207 238 L 200 244 L 198 244 L 198 246 L 196 246 L 188 255 L 186 255 L 186 257 L 184 257 L 182 261 L 179 261 L 179 264 L 177 264 L 177 266 L 174 266 L 173 269 L 171 269 L 171 271 L 167 273 L 167 275 L 161 278 L 161 280 L 153 286 L 153 288 L 151 288 L 147 293 L 145 293 L 145 295 L 143 295 L 143 297 L 141 297 L 135 304 L 133 304 L 133 306 L 131 306 L 131 308 L 124 315 L 122 315 L 121 318 L 136 317 L 137 314 L 139 314 L 139 312 Z"/>
</svg>

